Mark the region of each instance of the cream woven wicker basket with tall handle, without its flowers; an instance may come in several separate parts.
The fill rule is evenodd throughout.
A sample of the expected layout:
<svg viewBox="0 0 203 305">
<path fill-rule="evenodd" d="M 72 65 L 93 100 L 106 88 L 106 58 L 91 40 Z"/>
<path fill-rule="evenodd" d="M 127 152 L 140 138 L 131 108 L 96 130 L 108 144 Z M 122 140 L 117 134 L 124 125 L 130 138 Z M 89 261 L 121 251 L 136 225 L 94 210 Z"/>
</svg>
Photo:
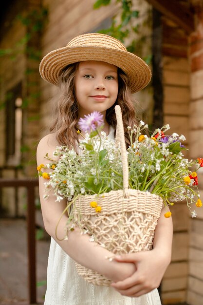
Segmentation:
<svg viewBox="0 0 203 305">
<path fill-rule="evenodd" d="M 120 143 L 121 146 L 124 188 L 99 196 L 79 196 L 74 202 L 74 218 L 75 221 L 79 219 L 84 228 L 91 228 L 97 244 L 114 254 L 150 250 L 163 201 L 149 192 L 129 189 L 128 160 L 119 106 L 115 106 L 115 113 L 116 145 Z M 102 207 L 100 213 L 90 207 L 91 201 L 96 201 Z M 78 274 L 89 283 L 102 286 L 111 284 L 111 280 L 103 275 L 78 263 L 75 265 Z"/>
</svg>

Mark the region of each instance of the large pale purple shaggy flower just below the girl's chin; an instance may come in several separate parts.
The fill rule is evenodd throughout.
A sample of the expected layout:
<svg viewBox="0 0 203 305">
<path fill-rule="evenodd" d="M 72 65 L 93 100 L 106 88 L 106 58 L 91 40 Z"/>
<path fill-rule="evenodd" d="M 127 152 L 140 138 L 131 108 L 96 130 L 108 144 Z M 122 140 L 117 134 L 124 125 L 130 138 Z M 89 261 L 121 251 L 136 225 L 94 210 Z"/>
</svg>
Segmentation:
<svg viewBox="0 0 203 305">
<path fill-rule="evenodd" d="M 78 121 L 79 128 L 84 132 L 91 132 L 104 125 L 103 114 L 93 111 L 91 114 L 84 115 Z"/>
</svg>

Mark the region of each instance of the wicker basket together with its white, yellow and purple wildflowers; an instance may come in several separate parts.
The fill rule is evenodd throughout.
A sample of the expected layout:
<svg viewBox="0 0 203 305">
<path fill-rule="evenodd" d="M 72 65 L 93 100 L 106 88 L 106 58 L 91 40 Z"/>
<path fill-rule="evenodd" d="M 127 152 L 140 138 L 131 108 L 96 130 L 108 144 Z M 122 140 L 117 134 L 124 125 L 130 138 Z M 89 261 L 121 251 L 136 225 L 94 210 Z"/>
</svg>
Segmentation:
<svg viewBox="0 0 203 305">
<path fill-rule="evenodd" d="M 126 151 L 120 107 L 115 111 L 116 143 L 102 132 L 102 115 L 94 112 L 78 122 L 87 133 L 77 153 L 60 146 L 54 152 L 58 162 L 46 156 L 50 163 L 38 167 L 39 175 L 47 179 L 44 198 L 54 190 L 56 201 L 67 199 L 65 239 L 77 225 L 90 235 L 90 241 L 113 253 L 148 250 L 163 203 L 172 206 L 185 200 L 189 209 L 192 203 L 202 206 L 194 169 L 203 167 L 203 159 L 184 158 L 185 137 L 167 135 L 168 125 L 148 136 L 144 134 L 148 126 L 142 121 L 128 128 L 130 146 Z M 45 168 L 53 172 L 42 172 Z M 194 210 L 191 214 L 196 216 Z M 170 215 L 165 213 L 165 217 Z M 87 281 L 110 284 L 102 275 L 79 264 L 76 267 Z"/>
</svg>

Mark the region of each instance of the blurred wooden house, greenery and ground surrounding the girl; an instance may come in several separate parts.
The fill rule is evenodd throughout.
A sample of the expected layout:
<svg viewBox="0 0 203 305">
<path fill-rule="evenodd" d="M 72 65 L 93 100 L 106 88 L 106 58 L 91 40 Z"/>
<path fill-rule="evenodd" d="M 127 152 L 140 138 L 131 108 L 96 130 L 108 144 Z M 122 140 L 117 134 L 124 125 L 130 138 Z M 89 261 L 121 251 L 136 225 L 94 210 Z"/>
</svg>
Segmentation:
<svg viewBox="0 0 203 305">
<path fill-rule="evenodd" d="M 135 94 L 138 116 L 150 128 L 169 124 L 185 135 L 186 157 L 203 157 L 203 0 L 7 0 L 0 25 L 0 303 L 43 303 L 50 240 L 36 149 L 49 133 L 57 88 L 41 79 L 41 58 L 80 34 L 118 38 L 152 69 Z M 194 210 L 191 219 L 185 203 L 171 208 L 163 304 L 203 305 L 203 209 Z"/>
</svg>

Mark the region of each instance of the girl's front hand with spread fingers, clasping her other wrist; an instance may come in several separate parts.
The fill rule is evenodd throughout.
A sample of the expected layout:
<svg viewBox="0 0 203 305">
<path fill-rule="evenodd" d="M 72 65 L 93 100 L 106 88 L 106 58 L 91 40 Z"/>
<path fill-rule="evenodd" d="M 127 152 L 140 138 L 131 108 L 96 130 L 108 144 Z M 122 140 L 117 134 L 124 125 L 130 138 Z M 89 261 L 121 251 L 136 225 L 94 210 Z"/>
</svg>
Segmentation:
<svg viewBox="0 0 203 305">
<path fill-rule="evenodd" d="M 120 294 L 129 297 L 139 297 L 157 288 L 167 266 L 170 257 L 160 253 L 156 249 L 137 253 L 123 254 L 114 258 L 117 262 L 133 262 L 136 271 L 124 281 L 112 283 Z"/>
</svg>

